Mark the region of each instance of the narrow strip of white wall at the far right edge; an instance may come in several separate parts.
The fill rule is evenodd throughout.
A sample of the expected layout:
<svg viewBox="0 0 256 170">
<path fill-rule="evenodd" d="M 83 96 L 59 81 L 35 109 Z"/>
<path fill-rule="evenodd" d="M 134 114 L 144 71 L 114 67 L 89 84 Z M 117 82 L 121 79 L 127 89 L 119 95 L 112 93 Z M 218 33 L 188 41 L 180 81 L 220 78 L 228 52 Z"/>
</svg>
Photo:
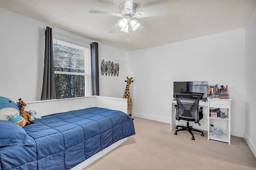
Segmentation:
<svg viewBox="0 0 256 170">
<path fill-rule="evenodd" d="M 256 9 L 245 27 L 245 65 L 244 139 L 256 156 Z"/>
</svg>

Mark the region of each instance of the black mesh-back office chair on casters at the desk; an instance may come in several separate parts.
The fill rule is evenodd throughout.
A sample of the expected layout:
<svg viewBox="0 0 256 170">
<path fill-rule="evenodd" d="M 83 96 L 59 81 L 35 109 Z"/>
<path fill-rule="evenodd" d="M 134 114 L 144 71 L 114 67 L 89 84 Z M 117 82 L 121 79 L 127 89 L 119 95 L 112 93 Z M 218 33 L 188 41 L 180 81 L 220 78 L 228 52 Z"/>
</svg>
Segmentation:
<svg viewBox="0 0 256 170">
<path fill-rule="evenodd" d="M 199 100 L 202 97 L 202 94 L 177 93 L 177 94 L 174 94 L 174 96 L 177 103 L 174 106 L 176 108 L 176 120 L 187 121 L 187 126 L 177 125 L 176 129 L 178 129 L 179 127 L 181 127 L 181 129 L 176 130 L 174 134 L 177 135 L 178 131 L 188 131 L 192 135 L 192 140 L 195 140 L 194 134 L 192 133 L 192 131 L 200 132 L 202 133 L 201 136 L 204 136 L 203 131 L 199 131 L 197 129 L 192 128 L 192 126 L 189 126 L 190 121 L 199 123 L 200 119 L 202 119 L 203 107 L 200 107 L 200 109 L 198 109 Z M 189 102 L 186 102 L 186 104 L 183 105 L 182 102 L 180 101 L 181 99 L 188 99 Z"/>
</svg>

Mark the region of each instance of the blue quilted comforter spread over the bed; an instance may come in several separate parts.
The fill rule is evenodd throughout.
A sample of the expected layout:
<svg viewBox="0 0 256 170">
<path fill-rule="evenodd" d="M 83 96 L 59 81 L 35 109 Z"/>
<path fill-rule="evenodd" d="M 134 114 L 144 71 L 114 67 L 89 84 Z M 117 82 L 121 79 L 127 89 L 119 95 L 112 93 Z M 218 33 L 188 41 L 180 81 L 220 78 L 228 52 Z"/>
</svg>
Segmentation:
<svg viewBox="0 0 256 170">
<path fill-rule="evenodd" d="M 24 126 L 34 146 L 0 147 L 0 169 L 66 170 L 135 134 L 125 113 L 91 107 L 43 116 Z"/>
</svg>

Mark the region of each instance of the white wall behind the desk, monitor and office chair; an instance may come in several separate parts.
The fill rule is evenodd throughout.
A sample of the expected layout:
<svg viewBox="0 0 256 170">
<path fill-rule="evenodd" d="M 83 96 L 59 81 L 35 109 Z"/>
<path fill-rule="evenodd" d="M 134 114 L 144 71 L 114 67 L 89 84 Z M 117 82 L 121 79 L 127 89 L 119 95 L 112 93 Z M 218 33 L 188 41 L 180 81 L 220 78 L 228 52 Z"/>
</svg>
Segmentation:
<svg viewBox="0 0 256 170">
<path fill-rule="evenodd" d="M 228 85 L 232 98 L 231 135 L 243 137 L 245 29 L 126 53 L 134 116 L 170 123 L 174 81 Z M 136 107 L 137 106 L 137 107 Z"/>
</svg>

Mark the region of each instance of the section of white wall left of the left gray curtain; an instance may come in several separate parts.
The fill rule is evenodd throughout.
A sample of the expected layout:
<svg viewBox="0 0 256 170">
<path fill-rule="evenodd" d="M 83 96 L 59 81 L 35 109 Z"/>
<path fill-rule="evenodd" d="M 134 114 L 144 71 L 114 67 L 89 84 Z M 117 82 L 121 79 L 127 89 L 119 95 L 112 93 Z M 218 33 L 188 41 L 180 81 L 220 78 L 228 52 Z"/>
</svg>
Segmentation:
<svg viewBox="0 0 256 170">
<path fill-rule="evenodd" d="M 39 99 L 43 27 L 43 23 L 0 8 L 0 96 L 13 101 Z"/>
</svg>

